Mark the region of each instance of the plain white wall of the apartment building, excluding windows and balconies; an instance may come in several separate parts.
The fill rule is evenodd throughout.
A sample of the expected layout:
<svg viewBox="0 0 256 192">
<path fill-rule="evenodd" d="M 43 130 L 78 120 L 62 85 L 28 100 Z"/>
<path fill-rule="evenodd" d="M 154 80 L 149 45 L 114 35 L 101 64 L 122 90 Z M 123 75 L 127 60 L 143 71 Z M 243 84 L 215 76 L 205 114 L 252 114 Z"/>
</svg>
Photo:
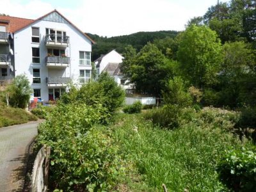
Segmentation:
<svg viewBox="0 0 256 192">
<path fill-rule="evenodd" d="M 40 44 L 32 43 L 32 29 L 31 27 L 40 28 Z M 69 47 L 65 53 L 70 57 L 70 65 L 65 69 L 59 71 L 52 68 L 47 68 L 45 65 L 45 58 L 47 56 L 47 47 L 45 47 L 45 28 L 66 31 L 69 39 Z M 40 47 L 40 64 L 32 63 L 32 47 Z M 57 49 L 57 47 L 56 47 Z M 74 83 L 78 83 L 79 70 L 92 70 L 91 66 L 79 65 L 79 51 L 92 52 L 92 42 L 82 35 L 71 24 L 60 22 L 51 22 L 47 20 L 38 20 L 32 25 L 17 31 L 14 34 L 14 54 L 15 54 L 15 76 L 26 74 L 31 83 L 31 88 L 41 89 L 41 98 L 48 100 L 48 87 L 46 84 L 46 77 L 71 77 Z M 33 68 L 40 68 L 41 83 L 33 84 Z"/>
</svg>

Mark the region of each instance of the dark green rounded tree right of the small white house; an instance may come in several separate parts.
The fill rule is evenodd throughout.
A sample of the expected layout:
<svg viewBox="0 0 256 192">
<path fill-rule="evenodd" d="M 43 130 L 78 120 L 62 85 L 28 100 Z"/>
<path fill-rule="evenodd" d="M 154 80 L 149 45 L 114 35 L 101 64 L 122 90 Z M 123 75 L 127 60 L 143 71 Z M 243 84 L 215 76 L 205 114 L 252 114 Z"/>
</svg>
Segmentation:
<svg viewBox="0 0 256 192">
<path fill-rule="evenodd" d="M 122 72 L 134 83 L 140 93 L 161 95 L 166 81 L 173 77 L 173 62 L 166 59 L 156 45 L 148 43 L 138 54 L 134 50 L 124 54 Z"/>
</svg>

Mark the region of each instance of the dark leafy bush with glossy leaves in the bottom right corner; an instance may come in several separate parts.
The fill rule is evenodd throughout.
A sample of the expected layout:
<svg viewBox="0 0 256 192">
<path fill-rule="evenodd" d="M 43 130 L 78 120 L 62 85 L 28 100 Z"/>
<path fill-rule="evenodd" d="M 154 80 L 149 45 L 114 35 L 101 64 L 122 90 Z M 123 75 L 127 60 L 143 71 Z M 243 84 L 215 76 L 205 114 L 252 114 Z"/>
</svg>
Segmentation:
<svg viewBox="0 0 256 192">
<path fill-rule="evenodd" d="M 220 179 L 234 191 L 255 191 L 256 150 L 228 150 L 218 165 Z"/>
</svg>

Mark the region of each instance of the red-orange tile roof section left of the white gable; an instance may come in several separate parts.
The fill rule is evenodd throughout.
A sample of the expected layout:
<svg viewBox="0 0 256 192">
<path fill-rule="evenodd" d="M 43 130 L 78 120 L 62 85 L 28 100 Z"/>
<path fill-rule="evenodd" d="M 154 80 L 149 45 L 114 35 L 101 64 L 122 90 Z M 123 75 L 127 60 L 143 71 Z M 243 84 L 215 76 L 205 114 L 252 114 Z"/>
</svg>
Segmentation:
<svg viewBox="0 0 256 192">
<path fill-rule="evenodd" d="M 24 28 L 25 26 L 28 26 L 29 24 L 35 21 L 33 19 L 24 19 L 19 17 L 4 16 L 4 15 L 0 15 L 0 20 L 9 21 L 8 32 L 11 32 L 11 33 Z"/>
</svg>

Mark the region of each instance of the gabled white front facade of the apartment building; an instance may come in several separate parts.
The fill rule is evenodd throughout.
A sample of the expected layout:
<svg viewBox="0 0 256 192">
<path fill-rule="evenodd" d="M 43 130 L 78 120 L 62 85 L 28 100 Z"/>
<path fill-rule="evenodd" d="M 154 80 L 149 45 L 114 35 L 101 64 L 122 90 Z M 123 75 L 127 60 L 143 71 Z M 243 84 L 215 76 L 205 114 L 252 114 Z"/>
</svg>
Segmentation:
<svg viewBox="0 0 256 192">
<path fill-rule="evenodd" d="M 79 76 L 81 76 L 81 70 L 90 72 L 90 76 L 92 74 L 92 66 L 90 65 L 90 62 L 86 62 L 86 64 L 83 63 L 83 65 L 79 64 L 81 63 L 81 56 L 79 56 L 79 52 L 86 52 L 86 54 L 88 53 L 88 56 L 90 56 L 92 52 L 92 40 L 86 37 L 81 31 L 79 31 L 79 29 L 74 27 L 74 25 L 63 17 L 61 17 L 60 20 L 62 22 L 56 22 L 54 19 L 51 21 L 51 19 L 49 19 L 51 16 L 56 17 L 56 15 L 57 17 L 61 17 L 58 12 L 51 12 L 44 18 L 36 20 L 29 26 L 16 31 L 13 34 L 15 76 L 20 74 L 26 74 L 26 76 L 28 76 L 31 88 L 36 90 L 36 93 L 34 92 L 31 95 L 31 99 L 33 99 L 33 97 L 39 97 L 38 90 L 40 90 L 40 99 L 56 99 L 56 97 L 61 94 L 61 91 L 63 92 L 65 90 L 65 86 L 67 86 L 66 81 L 63 81 L 65 78 L 60 77 L 67 77 L 66 79 L 70 78 L 72 83 L 80 84 L 81 81 L 79 82 Z M 45 20 L 45 18 L 47 18 L 47 20 Z M 32 28 L 39 29 L 39 43 L 32 42 Z M 46 45 L 46 29 L 58 31 L 55 33 L 59 33 L 60 31 L 62 31 L 62 34 L 65 33 L 65 37 L 69 36 L 68 45 Z M 33 47 L 39 48 L 40 63 L 33 63 Z M 47 56 L 56 58 L 49 54 L 52 49 L 54 49 L 54 51 L 57 49 L 60 49 L 62 52 L 64 51 L 65 55 L 61 54 L 61 56 L 64 56 L 65 58 L 67 57 L 66 60 L 69 58 L 69 63 L 64 63 L 63 65 L 58 62 L 47 63 Z M 33 77 L 38 78 L 38 72 L 40 74 L 40 82 L 36 79 L 35 83 L 35 81 L 33 82 L 33 80 L 35 80 Z M 89 75 L 87 77 L 89 77 Z M 48 80 L 53 79 L 51 80 L 51 83 L 49 83 L 50 80 L 47 83 L 47 78 Z M 52 94 L 54 95 L 54 98 L 52 98 Z"/>
</svg>

